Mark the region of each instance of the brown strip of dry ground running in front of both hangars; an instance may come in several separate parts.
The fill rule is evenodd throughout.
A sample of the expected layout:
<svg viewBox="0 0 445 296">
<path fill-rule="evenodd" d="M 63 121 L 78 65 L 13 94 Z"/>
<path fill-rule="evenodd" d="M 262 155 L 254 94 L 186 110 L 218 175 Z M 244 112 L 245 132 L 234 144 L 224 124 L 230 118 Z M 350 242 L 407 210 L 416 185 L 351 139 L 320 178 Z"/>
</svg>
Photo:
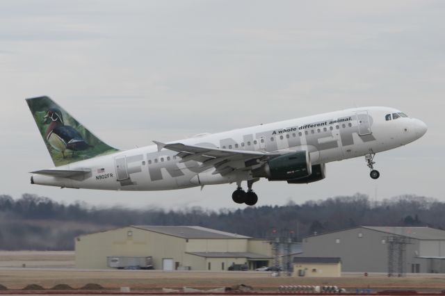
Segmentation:
<svg viewBox="0 0 445 296">
<path fill-rule="evenodd" d="M 339 278 L 271 277 L 268 272 L 158 272 L 139 270 L 85 271 L 85 270 L 0 270 L 0 283 L 8 288 L 20 289 L 29 283 L 44 288 L 67 284 L 81 288 L 86 283 L 98 283 L 106 289 L 122 286 L 131 289 L 154 290 L 160 288 L 217 288 L 245 284 L 255 290 L 276 289 L 281 285 L 335 285 L 341 288 L 445 288 L 445 275 L 425 277 L 388 278 L 385 276 L 350 276 Z"/>
</svg>

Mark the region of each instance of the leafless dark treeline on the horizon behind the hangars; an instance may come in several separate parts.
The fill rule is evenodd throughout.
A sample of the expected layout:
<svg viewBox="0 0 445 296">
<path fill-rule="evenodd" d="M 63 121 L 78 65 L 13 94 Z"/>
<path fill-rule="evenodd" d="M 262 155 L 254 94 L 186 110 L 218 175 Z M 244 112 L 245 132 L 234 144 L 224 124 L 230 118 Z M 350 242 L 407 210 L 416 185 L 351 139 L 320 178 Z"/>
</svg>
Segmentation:
<svg viewBox="0 0 445 296">
<path fill-rule="evenodd" d="M 304 204 L 259 206 L 244 210 L 208 211 L 94 208 L 60 204 L 25 194 L 0 195 L 0 249 L 73 249 L 81 233 L 127 225 L 198 225 L 267 238 L 275 230 L 301 239 L 314 232 L 368 226 L 430 226 L 445 229 L 445 202 L 403 195 L 373 202 L 366 195 L 333 197 Z"/>
</svg>

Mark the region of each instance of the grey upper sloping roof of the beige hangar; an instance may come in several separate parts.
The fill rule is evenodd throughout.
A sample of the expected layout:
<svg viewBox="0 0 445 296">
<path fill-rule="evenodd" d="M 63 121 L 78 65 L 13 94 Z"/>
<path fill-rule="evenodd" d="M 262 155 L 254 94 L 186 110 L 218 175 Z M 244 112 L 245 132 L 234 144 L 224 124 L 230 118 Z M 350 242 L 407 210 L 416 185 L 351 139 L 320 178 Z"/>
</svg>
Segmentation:
<svg viewBox="0 0 445 296">
<path fill-rule="evenodd" d="M 241 236 L 236 233 L 218 231 L 199 226 L 149 226 L 149 225 L 133 225 L 132 227 L 163 233 L 167 236 L 176 236 L 178 238 L 250 238 L 249 236 Z"/>
</svg>

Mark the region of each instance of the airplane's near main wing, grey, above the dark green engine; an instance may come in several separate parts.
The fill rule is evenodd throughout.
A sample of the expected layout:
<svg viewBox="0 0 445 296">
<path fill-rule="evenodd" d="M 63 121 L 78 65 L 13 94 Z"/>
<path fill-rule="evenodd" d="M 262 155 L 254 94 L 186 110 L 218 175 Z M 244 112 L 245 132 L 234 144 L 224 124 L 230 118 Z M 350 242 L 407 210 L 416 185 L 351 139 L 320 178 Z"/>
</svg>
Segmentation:
<svg viewBox="0 0 445 296">
<path fill-rule="evenodd" d="M 197 161 L 201 163 L 201 169 L 215 167 L 212 174 L 229 174 L 234 170 L 251 170 L 252 167 L 261 165 L 268 159 L 287 154 L 286 152 L 261 152 L 234 149 L 219 149 L 213 147 L 201 147 L 194 145 L 184 145 L 182 143 L 164 144 L 153 141 L 158 145 L 158 150 L 168 149 L 179 152 L 177 157 L 181 158 L 180 163 L 186 161 Z"/>
</svg>

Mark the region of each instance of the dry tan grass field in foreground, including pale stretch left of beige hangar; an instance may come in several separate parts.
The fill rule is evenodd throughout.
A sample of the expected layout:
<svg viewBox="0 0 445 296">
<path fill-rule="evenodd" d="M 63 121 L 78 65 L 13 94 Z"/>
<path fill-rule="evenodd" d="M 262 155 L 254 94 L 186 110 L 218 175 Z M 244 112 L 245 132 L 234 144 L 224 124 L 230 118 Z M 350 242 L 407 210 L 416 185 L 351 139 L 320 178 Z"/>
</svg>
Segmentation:
<svg viewBox="0 0 445 296">
<path fill-rule="evenodd" d="M 26 268 L 22 268 L 26 264 Z M 335 285 L 341 288 L 445 289 L 445 274 L 408 274 L 388 278 L 385 274 L 345 274 L 339 278 L 273 277 L 270 272 L 162 272 L 156 270 L 75 270 L 74 252 L 0 252 L 0 284 L 12 289 L 31 283 L 44 288 L 68 284 L 80 288 L 99 283 L 108 289 L 122 286 L 153 290 L 161 288 L 218 288 L 241 283 L 256 290 L 281 285 Z"/>
</svg>

